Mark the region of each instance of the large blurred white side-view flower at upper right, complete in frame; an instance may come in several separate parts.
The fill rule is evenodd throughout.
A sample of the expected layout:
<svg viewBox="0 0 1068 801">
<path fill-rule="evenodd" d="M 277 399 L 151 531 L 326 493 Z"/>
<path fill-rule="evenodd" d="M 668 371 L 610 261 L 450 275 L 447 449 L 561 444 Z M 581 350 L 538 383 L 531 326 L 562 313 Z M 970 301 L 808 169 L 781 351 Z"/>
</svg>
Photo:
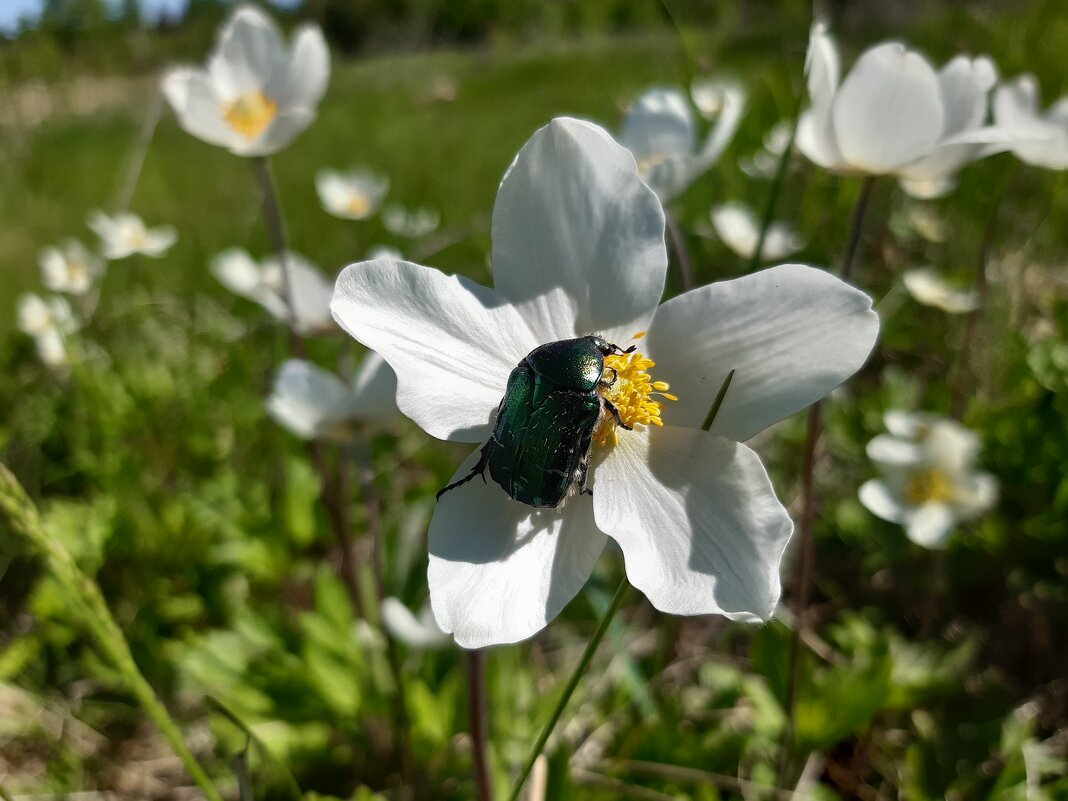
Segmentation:
<svg viewBox="0 0 1068 801">
<path fill-rule="evenodd" d="M 827 26 L 812 27 L 806 64 L 812 107 L 797 146 L 842 173 L 894 175 L 910 194 L 933 198 L 956 185 L 967 164 L 1008 147 L 985 125 L 998 82 L 990 59 L 958 56 L 942 69 L 898 42 L 865 50 L 839 84 L 838 50 Z"/>
</svg>

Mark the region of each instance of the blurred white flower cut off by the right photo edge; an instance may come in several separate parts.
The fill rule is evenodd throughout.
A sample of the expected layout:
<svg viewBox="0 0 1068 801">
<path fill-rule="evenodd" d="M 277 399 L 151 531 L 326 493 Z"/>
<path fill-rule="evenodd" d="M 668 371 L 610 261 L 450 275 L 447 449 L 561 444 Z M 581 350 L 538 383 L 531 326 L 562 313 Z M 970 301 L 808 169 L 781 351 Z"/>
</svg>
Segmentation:
<svg viewBox="0 0 1068 801">
<path fill-rule="evenodd" d="M 1021 161 L 1050 170 L 1068 169 L 1068 96 L 1039 111 L 1038 81 L 1021 75 L 994 93 L 994 121 L 1021 139 L 1012 153 Z"/>
</svg>

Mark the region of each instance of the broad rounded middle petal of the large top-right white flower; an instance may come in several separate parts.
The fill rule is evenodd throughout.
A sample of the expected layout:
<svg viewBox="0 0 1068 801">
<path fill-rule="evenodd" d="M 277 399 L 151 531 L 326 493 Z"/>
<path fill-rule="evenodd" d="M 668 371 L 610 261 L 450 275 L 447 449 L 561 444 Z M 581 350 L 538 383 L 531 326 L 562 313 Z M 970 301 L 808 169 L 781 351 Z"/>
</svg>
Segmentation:
<svg viewBox="0 0 1068 801">
<path fill-rule="evenodd" d="M 833 116 L 838 148 L 853 169 L 893 172 L 930 153 L 942 137 L 938 76 L 904 45 L 873 47 L 843 81 Z"/>
</svg>

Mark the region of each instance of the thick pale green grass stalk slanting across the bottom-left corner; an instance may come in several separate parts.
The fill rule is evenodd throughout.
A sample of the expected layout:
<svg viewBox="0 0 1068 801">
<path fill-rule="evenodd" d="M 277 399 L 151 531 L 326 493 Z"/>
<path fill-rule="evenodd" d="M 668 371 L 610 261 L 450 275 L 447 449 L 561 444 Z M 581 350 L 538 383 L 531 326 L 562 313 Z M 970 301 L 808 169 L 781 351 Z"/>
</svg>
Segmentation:
<svg viewBox="0 0 1068 801">
<path fill-rule="evenodd" d="M 122 629 L 111 616 L 111 611 L 100 593 L 100 587 L 81 571 L 62 543 L 50 537 L 44 530 L 33 502 L 26 494 L 18 480 L 2 464 L 0 464 L 0 512 L 6 516 L 12 530 L 25 536 L 41 552 L 48 564 L 48 569 L 60 584 L 69 587 L 75 593 L 82 606 L 84 622 L 96 639 L 97 645 L 123 676 L 130 692 L 138 700 L 145 713 L 170 742 L 174 753 L 182 760 L 190 778 L 201 788 L 204 797 L 208 801 L 222 801 L 222 796 L 208 779 L 207 772 L 193 756 L 192 751 L 189 750 L 182 737 L 180 729 L 167 711 L 167 707 L 160 703 L 155 691 L 141 675 L 137 662 L 134 661 L 129 644 L 123 637 Z"/>
</svg>

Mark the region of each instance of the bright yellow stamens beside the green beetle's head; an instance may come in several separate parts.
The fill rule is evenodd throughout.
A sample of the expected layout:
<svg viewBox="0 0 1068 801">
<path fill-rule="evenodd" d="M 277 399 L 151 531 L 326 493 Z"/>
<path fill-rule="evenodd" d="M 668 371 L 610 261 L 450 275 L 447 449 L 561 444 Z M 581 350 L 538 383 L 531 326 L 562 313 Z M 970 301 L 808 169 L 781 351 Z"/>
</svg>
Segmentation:
<svg viewBox="0 0 1068 801">
<path fill-rule="evenodd" d="M 619 421 L 624 425 L 663 425 L 660 419 L 663 404 L 657 398 L 678 399 L 668 392 L 670 387 L 666 381 L 653 380 L 647 372 L 653 366 L 656 366 L 656 362 L 638 350 L 623 356 L 604 357 L 600 394 L 619 412 Z M 616 429 L 619 421 L 611 412 L 601 415 L 594 430 L 594 440 L 601 447 L 618 444 Z"/>
</svg>

